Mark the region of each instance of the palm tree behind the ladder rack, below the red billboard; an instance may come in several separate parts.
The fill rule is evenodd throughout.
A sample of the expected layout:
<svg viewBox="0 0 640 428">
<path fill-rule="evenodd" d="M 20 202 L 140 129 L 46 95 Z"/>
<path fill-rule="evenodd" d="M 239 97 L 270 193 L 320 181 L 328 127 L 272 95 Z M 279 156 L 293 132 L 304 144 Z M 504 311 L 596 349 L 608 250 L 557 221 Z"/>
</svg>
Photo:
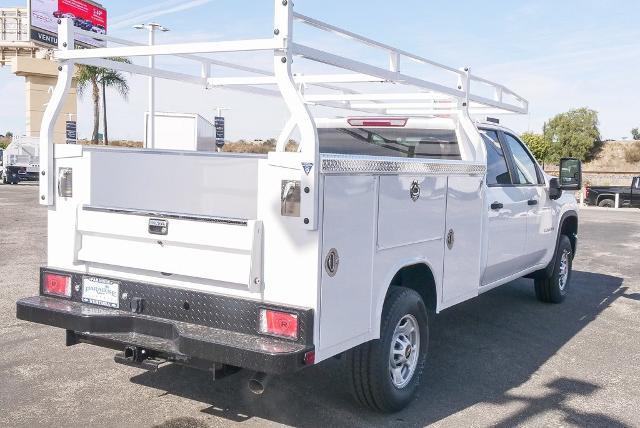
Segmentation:
<svg viewBox="0 0 640 428">
<path fill-rule="evenodd" d="M 130 64 L 126 58 L 111 58 L 112 61 L 126 62 Z M 100 86 L 102 86 L 103 100 L 106 97 L 105 89 L 107 87 L 114 88 L 125 100 L 129 95 L 129 84 L 125 77 L 119 71 L 107 68 L 94 67 L 91 65 L 78 65 L 78 94 L 82 96 L 86 90 L 91 87 L 91 95 L 93 98 L 93 134 L 91 142 L 98 144 L 98 132 L 100 130 Z M 104 122 L 105 122 L 105 144 L 109 144 L 107 140 L 107 103 L 104 100 Z"/>
</svg>

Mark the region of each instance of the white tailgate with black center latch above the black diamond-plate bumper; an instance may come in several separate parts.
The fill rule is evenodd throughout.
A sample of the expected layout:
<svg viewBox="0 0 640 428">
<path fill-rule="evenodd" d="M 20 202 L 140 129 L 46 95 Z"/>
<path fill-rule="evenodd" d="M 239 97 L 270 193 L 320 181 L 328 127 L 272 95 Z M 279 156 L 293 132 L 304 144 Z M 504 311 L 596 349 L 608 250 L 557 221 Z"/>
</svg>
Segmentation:
<svg viewBox="0 0 640 428">
<path fill-rule="evenodd" d="M 166 236 L 148 232 L 147 216 L 78 212 L 77 260 L 249 286 L 261 279 L 262 224 L 168 219 Z"/>
</svg>

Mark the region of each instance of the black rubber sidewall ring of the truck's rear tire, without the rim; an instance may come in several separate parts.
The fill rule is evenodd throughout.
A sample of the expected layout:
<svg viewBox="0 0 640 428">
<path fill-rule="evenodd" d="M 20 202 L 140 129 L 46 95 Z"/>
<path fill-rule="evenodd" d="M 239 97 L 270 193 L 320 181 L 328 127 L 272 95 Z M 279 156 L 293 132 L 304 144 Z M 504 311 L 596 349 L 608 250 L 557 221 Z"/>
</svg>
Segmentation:
<svg viewBox="0 0 640 428">
<path fill-rule="evenodd" d="M 389 352 L 391 340 L 398 322 L 407 314 L 413 315 L 420 328 L 420 356 L 411 381 L 402 389 L 397 388 L 389 375 Z M 404 408 L 414 397 L 421 383 L 424 365 L 429 349 L 429 317 L 422 298 L 418 293 L 407 288 L 391 291 L 383 310 L 380 339 L 372 345 L 372 365 L 374 373 L 372 383 L 379 388 L 384 407 L 390 411 Z"/>
</svg>

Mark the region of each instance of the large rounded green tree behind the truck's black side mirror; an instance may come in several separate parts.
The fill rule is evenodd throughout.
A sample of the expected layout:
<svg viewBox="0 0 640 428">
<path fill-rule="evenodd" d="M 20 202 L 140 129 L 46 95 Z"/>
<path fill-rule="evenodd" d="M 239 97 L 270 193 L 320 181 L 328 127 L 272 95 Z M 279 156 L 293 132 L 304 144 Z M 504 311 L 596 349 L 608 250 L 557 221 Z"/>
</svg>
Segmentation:
<svg viewBox="0 0 640 428">
<path fill-rule="evenodd" d="M 561 113 L 544 125 L 544 137 L 551 142 L 550 161 L 564 157 L 588 160 L 601 144 L 598 112 L 586 107 Z"/>
</svg>

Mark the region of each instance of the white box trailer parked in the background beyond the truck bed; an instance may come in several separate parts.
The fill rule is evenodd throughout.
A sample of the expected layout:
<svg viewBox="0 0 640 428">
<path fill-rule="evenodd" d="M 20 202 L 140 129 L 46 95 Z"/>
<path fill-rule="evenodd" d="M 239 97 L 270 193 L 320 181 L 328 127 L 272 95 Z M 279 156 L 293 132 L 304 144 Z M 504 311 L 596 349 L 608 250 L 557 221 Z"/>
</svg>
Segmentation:
<svg viewBox="0 0 640 428">
<path fill-rule="evenodd" d="M 216 130 L 211 122 L 196 113 L 154 114 L 155 132 L 149 141 L 149 112 L 145 113 L 144 147 L 158 150 L 216 151 Z"/>
</svg>

